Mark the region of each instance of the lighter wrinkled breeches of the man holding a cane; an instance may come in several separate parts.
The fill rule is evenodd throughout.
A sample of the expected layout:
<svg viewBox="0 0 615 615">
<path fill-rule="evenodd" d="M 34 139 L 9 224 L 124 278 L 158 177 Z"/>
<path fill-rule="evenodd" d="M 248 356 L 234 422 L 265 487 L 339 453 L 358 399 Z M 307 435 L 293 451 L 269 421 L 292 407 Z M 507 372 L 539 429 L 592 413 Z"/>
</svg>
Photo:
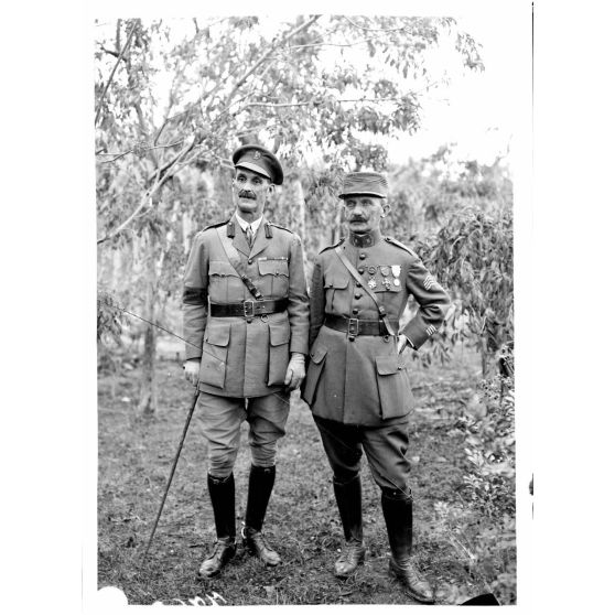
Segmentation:
<svg viewBox="0 0 615 615">
<path fill-rule="evenodd" d="M 283 392 L 246 399 L 202 391 L 196 402 L 196 417 L 207 441 L 208 473 L 216 478 L 231 474 L 244 421 L 249 423 L 252 465 L 276 465 L 277 443 L 285 434 L 289 409 L 289 395 Z"/>
</svg>

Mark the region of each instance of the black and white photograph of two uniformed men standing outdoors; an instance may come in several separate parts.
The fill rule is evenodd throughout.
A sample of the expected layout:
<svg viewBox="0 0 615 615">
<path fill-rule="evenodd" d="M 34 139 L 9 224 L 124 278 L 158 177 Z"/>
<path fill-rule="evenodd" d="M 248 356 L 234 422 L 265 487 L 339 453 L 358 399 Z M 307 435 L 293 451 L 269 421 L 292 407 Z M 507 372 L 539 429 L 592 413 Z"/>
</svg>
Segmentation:
<svg viewBox="0 0 615 615">
<path fill-rule="evenodd" d="M 531 4 L 375 10 L 94 19 L 99 605 L 518 603 Z"/>
</svg>

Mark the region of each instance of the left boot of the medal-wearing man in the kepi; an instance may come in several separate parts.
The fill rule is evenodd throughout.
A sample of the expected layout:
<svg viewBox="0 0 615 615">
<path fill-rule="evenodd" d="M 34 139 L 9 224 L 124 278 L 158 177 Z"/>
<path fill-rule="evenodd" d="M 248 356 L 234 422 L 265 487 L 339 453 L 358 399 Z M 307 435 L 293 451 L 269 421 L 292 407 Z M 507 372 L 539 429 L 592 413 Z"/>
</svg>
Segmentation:
<svg viewBox="0 0 615 615">
<path fill-rule="evenodd" d="M 344 528 L 344 539 L 346 540 L 344 551 L 335 562 L 335 576 L 346 579 L 365 561 L 360 476 L 355 476 L 348 483 L 339 483 L 334 478 L 333 492 L 335 493 L 335 500 Z"/>
</svg>

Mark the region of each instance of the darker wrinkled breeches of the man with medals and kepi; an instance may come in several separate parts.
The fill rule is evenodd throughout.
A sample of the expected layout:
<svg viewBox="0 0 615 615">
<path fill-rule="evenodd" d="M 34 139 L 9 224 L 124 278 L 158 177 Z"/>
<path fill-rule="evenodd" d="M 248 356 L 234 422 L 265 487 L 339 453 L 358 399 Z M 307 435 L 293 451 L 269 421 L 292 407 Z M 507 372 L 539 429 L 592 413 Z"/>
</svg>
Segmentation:
<svg viewBox="0 0 615 615">
<path fill-rule="evenodd" d="M 407 421 L 385 427 L 349 425 L 320 417 L 314 417 L 314 421 L 337 483 L 346 484 L 358 476 L 365 451 L 378 486 L 387 493 L 399 492 L 410 497 Z"/>
</svg>

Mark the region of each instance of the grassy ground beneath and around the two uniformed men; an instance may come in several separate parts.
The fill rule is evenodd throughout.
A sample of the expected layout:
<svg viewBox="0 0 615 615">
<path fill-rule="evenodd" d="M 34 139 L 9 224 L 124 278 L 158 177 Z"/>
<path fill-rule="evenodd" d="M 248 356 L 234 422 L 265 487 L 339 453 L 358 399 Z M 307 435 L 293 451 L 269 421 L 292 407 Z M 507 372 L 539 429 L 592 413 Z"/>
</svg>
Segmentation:
<svg viewBox="0 0 615 615">
<path fill-rule="evenodd" d="M 457 352 L 447 366 L 429 369 L 416 362 L 418 408 L 410 422 L 409 457 L 416 509 L 414 553 L 436 590 L 439 604 L 493 591 L 496 579 L 512 579 L 515 548 L 497 565 L 477 565 L 473 540 L 481 516 L 464 500 L 467 471 L 463 434 L 454 417 L 474 395 L 478 358 Z M 138 369 L 99 378 L 98 586 L 120 587 L 130 604 L 412 604 L 388 576 L 388 544 L 379 489 L 364 463 L 364 522 L 368 555 L 348 580 L 332 574 L 343 535 L 327 466 L 309 408 L 293 393 L 287 436 L 281 440 L 278 479 L 265 532 L 283 563 L 266 569 L 240 548 L 213 580 L 196 572 L 214 540 L 206 490 L 206 450 L 193 419 L 149 555 L 142 561 L 158 506 L 181 439 L 192 390 L 182 367 L 159 363 L 159 410 L 139 416 Z M 235 468 L 238 531 L 245 511 L 249 471 L 246 430 Z M 461 510 L 455 527 L 442 510 Z M 461 529 L 460 529 L 461 528 Z M 476 552 L 476 550 L 474 550 Z M 222 597 L 217 597 L 222 596 Z M 498 595 L 514 603 L 515 592 Z M 497 595 L 497 594 L 496 594 Z M 209 598 L 207 597 L 209 596 Z"/>
</svg>

